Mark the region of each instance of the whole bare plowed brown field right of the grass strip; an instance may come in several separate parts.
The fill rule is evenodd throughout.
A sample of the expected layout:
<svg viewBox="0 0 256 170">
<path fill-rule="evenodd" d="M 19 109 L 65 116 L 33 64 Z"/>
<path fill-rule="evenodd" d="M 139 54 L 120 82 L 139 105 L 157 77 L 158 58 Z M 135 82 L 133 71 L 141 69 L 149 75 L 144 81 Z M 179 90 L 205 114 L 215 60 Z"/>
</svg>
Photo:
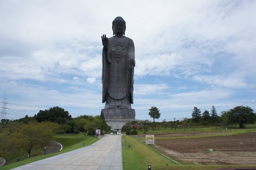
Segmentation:
<svg viewBox="0 0 256 170">
<path fill-rule="evenodd" d="M 152 147 L 169 157 L 186 163 L 256 164 L 256 133 L 156 139 L 156 145 Z M 210 148 L 213 152 L 209 152 Z"/>
</svg>

